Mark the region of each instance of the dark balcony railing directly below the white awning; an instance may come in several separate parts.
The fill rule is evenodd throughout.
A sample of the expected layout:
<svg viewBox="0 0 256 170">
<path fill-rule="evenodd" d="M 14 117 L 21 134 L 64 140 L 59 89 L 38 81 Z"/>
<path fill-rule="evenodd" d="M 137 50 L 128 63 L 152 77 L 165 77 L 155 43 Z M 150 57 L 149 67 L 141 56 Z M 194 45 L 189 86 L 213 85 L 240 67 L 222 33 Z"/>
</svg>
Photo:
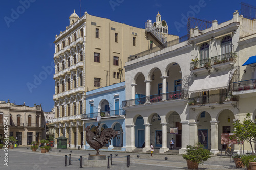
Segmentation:
<svg viewBox="0 0 256 170">
<path fill-rule="evenodd" d="M 188 99 L 189 105 L 216 103 L 216 102 L 227 102 L 227 101 L 237 101 L 236 96 L 230 96 L 229 93 L 218 93 L 211 95 L 203 95 Z"/>
</svg>

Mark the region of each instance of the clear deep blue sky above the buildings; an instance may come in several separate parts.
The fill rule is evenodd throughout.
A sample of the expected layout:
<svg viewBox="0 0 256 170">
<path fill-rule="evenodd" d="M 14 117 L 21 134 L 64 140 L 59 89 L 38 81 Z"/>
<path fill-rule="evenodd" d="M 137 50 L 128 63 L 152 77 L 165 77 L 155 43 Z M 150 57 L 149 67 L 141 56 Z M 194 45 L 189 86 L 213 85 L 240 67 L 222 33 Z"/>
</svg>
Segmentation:
<svg viewBox="0 0 256 170">
<path fill-rule="evenodd" d="M 28 3 L 30 2 L 30 3 Z M 256 6 L 255 1 L 243 1 Z M 199 7 L 199 8 L 198 8 Z M 54 71 L 51 67 L 55 34 L 69 25 L 69 16 L 76 10 L 80 15 L 79 0 L 11 0 L 0 6 L 0 100 L 15 104 L 41 104 L 44 111 L 54 105 Z M 169 34 L 187 34 L 183 16 L 200 19 L 230 20 L 234 10 L 240 11 L 240 1 L 160 1 L 160 0 L 81 0 L 81 16 L 109 18 L 127 25 L 144 28 L 146 20 L 156 21 L 158 11 L 167 22 Z M 182 23 L 183 22 L 183 23 Z M 179 29 L 176 25 L 180 26 Z M 52 67 L 53 68 L 53 67 Z"/>
</svg>

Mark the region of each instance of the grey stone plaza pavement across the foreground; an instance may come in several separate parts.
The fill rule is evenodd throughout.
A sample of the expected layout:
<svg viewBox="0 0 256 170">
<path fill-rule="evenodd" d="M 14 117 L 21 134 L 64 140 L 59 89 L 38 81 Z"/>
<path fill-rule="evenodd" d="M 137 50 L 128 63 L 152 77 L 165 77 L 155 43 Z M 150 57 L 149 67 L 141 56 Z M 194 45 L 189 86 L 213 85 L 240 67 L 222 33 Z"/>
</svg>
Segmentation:
<svg viewBox="0 0 256 170">
<path fill-rule="evenodd" d="M 29 149 L 27 149 L 29 148 Z M 104 168 L 94 168 L 85 167 L 84 163 L 82 168 L 80 167 L 79 158 L 82 155 L 83 161 L 87 160 L 88 154 L 95 154 L 96 151 L 88 150 L 72 150 L 70 149 L 61 150 L 52 149 L 49 153 L 41 154 L 41 152 L 32 152 L 30 147 L 17 147 L 14 149 L 8 149 L 8 166 L 4 165 L 4 149 L 0 149 L 0 169 L 2 170 L 44 170 L 44 169 L 107 169 Z M 71 153 L 71 165 L 69 164 L 69 159 L 67 159 L 67 166 L 65 167 L 65 155 Z M 149 170 L 149 169 L 187 169 L 186 161 L 181 155 L 166 155 L 166 154 L 150 154 L 144 153 L 128 153 L 128 152 L 105 152 L 100 151 L 101 155 L 109 156 L 112 154 L 113 166 L 110 169 L 131 169 L 131 170 Z M 118 154 L 118 156 L 115 156 Z M 126 166 L 126 155 L 130 155 L 130 167 Z M 139 155 L 139 158 L 137 158 Z M 168 159 L 165 160 L 164 158 Z M 204 165 L 199 165 L 199 169 L 236 169 L 234 167 L 234 162 L 230 162 L 230 158 L 226 157 L 211 157 Z"/>
</svg>

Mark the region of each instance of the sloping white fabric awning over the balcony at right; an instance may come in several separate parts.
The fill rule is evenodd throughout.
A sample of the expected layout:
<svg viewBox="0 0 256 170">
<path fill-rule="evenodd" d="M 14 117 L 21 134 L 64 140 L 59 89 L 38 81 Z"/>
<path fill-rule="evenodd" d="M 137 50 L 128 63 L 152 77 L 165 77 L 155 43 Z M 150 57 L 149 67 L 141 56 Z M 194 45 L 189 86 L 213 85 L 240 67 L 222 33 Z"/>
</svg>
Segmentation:
<svg viewBox="0 0 256 170">
<path fill-rule="evenodd" d="M 219 90 L 228 88 L 236 69 L 225 72 L 215 72 L 204 77 L 196 77 L 188 92 L 196 93 L 201 91 Z"/>
</svg>

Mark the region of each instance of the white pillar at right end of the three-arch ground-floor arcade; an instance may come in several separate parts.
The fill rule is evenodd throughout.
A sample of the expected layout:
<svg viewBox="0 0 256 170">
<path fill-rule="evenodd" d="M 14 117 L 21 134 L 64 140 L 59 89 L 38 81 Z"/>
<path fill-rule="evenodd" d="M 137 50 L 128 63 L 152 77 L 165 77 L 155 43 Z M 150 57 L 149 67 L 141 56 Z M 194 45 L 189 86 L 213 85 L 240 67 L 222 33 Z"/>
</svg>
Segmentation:
<svg viewBox="0 0 256 170">
<path fill-rule="evenodd" d="M 189 121 L 181 121 L 182 124 L 182 133 L 181 133 L 181 149 L 179 150 L 179 154 L 184 154 L 186 151 L 186 145 L 189 145 Z"/>
</svg>

